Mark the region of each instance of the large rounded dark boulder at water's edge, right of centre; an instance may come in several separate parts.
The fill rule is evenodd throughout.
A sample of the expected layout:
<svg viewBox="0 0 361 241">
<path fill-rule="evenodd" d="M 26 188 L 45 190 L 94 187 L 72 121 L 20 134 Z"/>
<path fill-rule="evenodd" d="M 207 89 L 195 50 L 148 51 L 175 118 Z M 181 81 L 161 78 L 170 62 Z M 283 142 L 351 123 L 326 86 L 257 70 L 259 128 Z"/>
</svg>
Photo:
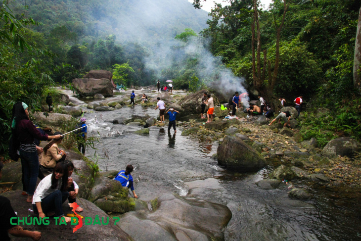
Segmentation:
<svg viewBox="0 0 361 241">
<path fill-rule="evenodd" d="M 265 158 L 241 139 L 226 136 L 217 149 L 218 163 L 229 170 L 254 172 L 266 166 Z"/>
</svg>

